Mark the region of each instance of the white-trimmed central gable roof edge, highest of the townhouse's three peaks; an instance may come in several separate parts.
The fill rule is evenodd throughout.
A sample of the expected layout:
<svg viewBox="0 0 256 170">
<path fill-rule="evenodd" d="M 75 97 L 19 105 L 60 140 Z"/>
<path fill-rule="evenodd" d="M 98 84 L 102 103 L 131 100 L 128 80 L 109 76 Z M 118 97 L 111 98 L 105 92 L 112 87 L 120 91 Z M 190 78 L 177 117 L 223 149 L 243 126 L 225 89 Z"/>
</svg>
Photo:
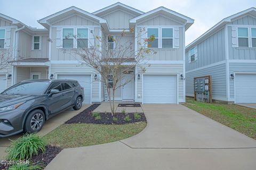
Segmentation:
<svg viewBox="0 0 256 170">
<path fill-rule="evenodd" d="M 107 7 L 104 7 L 101 10 L 95 11 L 92 14 L 94 14 L 94 15 L 102 15 L 102 14 L 105 14 L 105 13 L 107 13 L 109 11 L 114 11 L 116 9 L 125 9 L 125 10 L 128 10 L 128 11 L 134 13 L 135 15 L 141 15 L 141 14 L 144 13 L 144 12 L 142 12 L 140 10 L 134 9 L 131 6 L 122 4 L 121 2 L 117 2 L 117 3 L 113 4 L 113 5 L 109 5 Z"/>
</svg>

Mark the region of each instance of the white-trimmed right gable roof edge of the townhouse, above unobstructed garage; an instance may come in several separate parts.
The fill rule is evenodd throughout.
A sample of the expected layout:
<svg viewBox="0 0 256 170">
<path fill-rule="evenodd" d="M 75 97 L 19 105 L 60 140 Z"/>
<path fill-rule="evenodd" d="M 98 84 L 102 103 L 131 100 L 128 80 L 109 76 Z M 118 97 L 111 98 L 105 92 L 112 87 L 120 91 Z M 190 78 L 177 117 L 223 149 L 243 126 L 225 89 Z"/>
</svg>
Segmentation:
<svg viewBox="0 0 256 170">
<path fill-rule="evenodd" d="M 130 23 L 135 25 L 136 22 L 139 22 L 140 20 L 156 15 L 156 14 L 164 14 L 166 16 L 169 16 L 171 18 L 175 18 L 176 20 L 178 20 L 179 22 L 182 22 L 185 24 L 185 29 L 187 30 L 191 25 L 193 25 L 194 20 L 186 17 L 185 15 L 182 15 L 178 12 L 172 11 L 170 9 L 167 9 L 166 7 L 160 6 L 157 9 L 151 10 L 149 12 L 146 12 L 142 15 L 139 15 L 138 17 L 135 17 L 133 19 L 130 19 Z"/>
</svg>

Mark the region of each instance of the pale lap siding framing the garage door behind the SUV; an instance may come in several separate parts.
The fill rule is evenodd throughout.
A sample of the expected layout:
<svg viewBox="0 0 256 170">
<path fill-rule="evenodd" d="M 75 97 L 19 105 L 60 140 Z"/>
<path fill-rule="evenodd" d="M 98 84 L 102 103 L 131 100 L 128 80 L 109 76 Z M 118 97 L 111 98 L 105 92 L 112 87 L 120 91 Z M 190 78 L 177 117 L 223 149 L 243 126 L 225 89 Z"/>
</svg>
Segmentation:
<svg viewBox="0 0 256 170">
<path fill-rule="evenodd" d="M 82 66 L 81 64 L 51 64 L 51 74 L 54 75 L 54 79 L 57 74 L 93 74 L 93 69 L 90 67 Z M 92 102 L 99 102 L 99 83 L 94 78 L 92 82 Z"/>
</svg>

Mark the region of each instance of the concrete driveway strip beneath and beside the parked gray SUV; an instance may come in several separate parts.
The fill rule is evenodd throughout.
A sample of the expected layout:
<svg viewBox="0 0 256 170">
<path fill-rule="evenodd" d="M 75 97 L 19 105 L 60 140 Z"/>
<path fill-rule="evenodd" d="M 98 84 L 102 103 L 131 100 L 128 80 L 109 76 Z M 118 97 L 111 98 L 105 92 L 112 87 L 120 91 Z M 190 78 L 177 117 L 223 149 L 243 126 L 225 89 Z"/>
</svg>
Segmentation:
<svg viewBox="0 0 256 170">
<path fill-rule="evenodd" d="M 49 119 L 45 122 L 41 131 L 38 132 L 37 134 L 40 136 L 44 136 L 47 133 L 50 133 L 51 131 L 53 131 L 53 129 L 59 127 L 61 124 L 65 123 L 70 118 L 79 114 L 79 112 L 86 109 L 90 105 L 91 104 L 83 104 L 83 106 L 80 110 L 74 110 L 73 108 L 70 108 L 70 109 L 52 117 L 51 119 Z M 10 137 L 0 138 L 0 160 L 4 159 L 4 157 L 6 156 L 5 149 L 10 145 L 11 140 L 12 141 L 17 140 L 21 136 L 22 136 L 22 134 L 18 134 L 18 135 L 14 135 L 14 136 L 10 136 Z"/>
</svg>

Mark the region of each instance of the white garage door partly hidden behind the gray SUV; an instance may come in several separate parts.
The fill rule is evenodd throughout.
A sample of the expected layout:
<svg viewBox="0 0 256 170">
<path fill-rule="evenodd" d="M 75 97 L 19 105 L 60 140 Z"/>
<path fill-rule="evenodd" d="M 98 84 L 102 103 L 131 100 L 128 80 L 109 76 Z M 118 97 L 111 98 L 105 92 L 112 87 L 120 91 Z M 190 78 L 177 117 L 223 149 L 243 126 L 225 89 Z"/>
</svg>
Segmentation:
<svg viewBox="0 0 256 170">
<path fill-rule="evenodd" d="M 77 80 L 79 84 L 84 87 L 84 102 L 91 102 L 91 75 L 58 75 L 58 79 L 72 79 Z"/>
</svg>

